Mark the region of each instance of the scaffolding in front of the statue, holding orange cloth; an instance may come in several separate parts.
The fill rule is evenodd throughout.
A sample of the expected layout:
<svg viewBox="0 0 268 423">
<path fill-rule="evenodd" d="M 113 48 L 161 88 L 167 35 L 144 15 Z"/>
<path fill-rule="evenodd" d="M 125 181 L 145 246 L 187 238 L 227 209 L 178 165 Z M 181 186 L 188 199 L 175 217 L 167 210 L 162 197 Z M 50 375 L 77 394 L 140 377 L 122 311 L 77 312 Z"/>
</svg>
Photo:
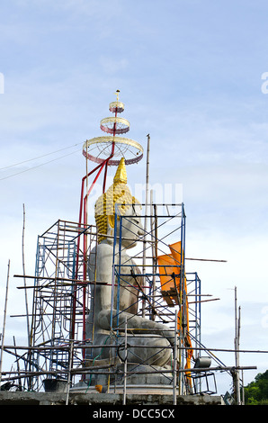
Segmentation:
<svg viewBox="0 0 268 423">
<path fill-rule="evenodd" d="M 117 284 L 113 285 L 113 293 L 117 293 L 117 321 L 122 312 L 120 309 L 120 296 L 122 290 L 137 290 L 138 315 L 148 320 L 164 323 L 174 331 L 174 344 L 172 348 L 172 359 L 169 371 L 166 370 L 165 385 L 173 387 L 178 392 L 191 392 L 190 374 L 178 373 L 178 369 L 190 368 L 191 365 L 189 349 L 192 343 L 194 347 L 201 343 L 201 280 L 197 274 L 185 272 L 185 212 L 181 204 L 142 204 L 143 210 L 149 214 L 142 217 L 142 236 L 138 238 L 139 247 L 130 258 L 122 259 L 124 247 L 122 245 L 123 228 L 127 221 L 134 220 L 134 217 L 115 215 L 119 220 L 119 228 L 114 231 L 113 243 L 119 245 L 118 251 L 114 252 L 113 268 L 114 278 Z M 134 226 L 137 223 L 134 223 Z M 176 242 L 174 243 L 173 240 Z M 176 251 L 177 257 L 171 255 L 174 246 L 179 246 Z M 182 254 L 183 251 L 183 254 Z M 116 260 L 116 257 L 118 258 Z M 160 261 L 160 257 L 172 258 L 173 263 Z M 133 258 L 135 263 L 133 264 Z M 131 262 L 130 262 L 131 260 Z M 115 264 L 117 263 L 117 264 Z M 165 264 L 163 264 L 165 263 Z M 167 263 L 167 264 L 166 264 Z M 129 279 L 132 278 L 133 284 Z M 139 282 L 138 282 L 139 281 Z M 189 293 L 188 293 L 189 292 Z M 191 301 L 188 301 L 191 297 Z M 129 305 L 131 308 L 133 304 Z M 187 307 L 186 307 L 187 305 Z M 131 320 L 131 318 L 130 318 Z M 112 321 L 112 320 L 111 320 Z M 133 332 L 132 329 L 129 332 Z M 112 327 L 114 343 L 120 345 L 121 337 L 118 326 Z M 126 330 L 127 337 L 127 330 Z M 127 342 L 127 340 L 126 340 Z M 153 355 L 153 353 L 152 353 Z M 131 361 L 131 358 L 128 357 Z M 131 368 L 131 374 L 139 374 L 140 369 L 147 365 L 147 372 L 156 372 L 156 366 L 148 365 L 150 360 L 142 362 Z M 160 371 L 161 373 L 162 371 Z M 128 377 L 124 374 L 124 378 Z"/>
</svg>

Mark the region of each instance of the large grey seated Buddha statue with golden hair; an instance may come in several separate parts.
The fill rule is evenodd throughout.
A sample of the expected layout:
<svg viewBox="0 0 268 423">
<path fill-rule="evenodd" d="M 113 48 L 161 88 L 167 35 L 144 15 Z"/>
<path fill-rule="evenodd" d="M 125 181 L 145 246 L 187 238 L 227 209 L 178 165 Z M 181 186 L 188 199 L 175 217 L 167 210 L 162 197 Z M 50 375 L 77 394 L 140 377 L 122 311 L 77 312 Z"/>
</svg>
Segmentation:
<svg viewBox="0 0 268 423">
<path fill-rule="evenodd" d="M 120 220 L 116 216 L 122 216 L 121 247 Z M 112 333 L 115 332 L 118 334 L 117 345 L 124 344 L 127 324 L 128 362 L 162 368 L 171 360 L 172 350 L 169 346 L 174 345 L 174 329 L 138 315 L 139 287 L 143 278 L 128 252 L 137 245 L 144 231 L 141 226 L 141 205 L 130 193 L 123 158 L 112 186 L 95 203 L 95 221 L 98 242 L 88 258 L 88 275 L 89 280 L 96 281 L 96 284 L 92 294 L 92 312 L 87 320 L 87 336 L 92 337 L 94 346 L 98 346 L 92 348 L 93 358 L 114 358 L 118 350 L 105 345 L 112 344 Z M 118 236 L 113 245 L 115 229 Z M 113 272 L 114 266 L 119 263 L 124 265 L 121 266 L 120 281 Z"/>
</svg>

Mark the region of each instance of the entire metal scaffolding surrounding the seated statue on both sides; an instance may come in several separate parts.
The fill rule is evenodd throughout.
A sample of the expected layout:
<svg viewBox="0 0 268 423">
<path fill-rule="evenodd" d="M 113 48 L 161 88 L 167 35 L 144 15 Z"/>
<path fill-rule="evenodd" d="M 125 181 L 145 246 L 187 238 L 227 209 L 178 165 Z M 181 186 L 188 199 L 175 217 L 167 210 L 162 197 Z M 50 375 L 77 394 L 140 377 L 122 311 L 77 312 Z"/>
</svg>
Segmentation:
<svg viewBox="0 0 268 423">
<path fill-rule="evenodd" d="M 185 272 L 184 206 L 183 203 L 141 206 L 142 227 L 149 228 L 131 249 L 131 263 L 123 260 L 122 229 L 133 218 L 116 215 L 119 225 L 114 230 L 112 244 L 119 248 L 113 248 L 111 303 L 117 304 L 117 314 L 111 318 L 109 340 L 102 346 L 94 342 L 94 291 L 100 282 L 89 280 L 85 272 L 88 268 L 85 260 L 97 247 L 100 235 L 96 227 L 58 220 L 38 237 L 35 275 L 26 276 L 29 281 L 26 289 L 32 292 L 29 346 L 24 354 L 17 355 L 25 390 L 49 391 L 55 384 L 57 389 L 62 384 L 65 389 L 76 390 L 82 383 L 88 392 L 96 389 L 95 381 L 102 375 L 109 381 L 108 392 L 126 395 L 140 388 L 137 383 L 140 375 L 144 375 L 143 380 L 155 375 L 161 376 L 164 383 L 160 389 L 156 378 L 156 383 L 147 385 L 151 392 L 164 390 L 173 393 L 174 398 L 177 393 L 196 393 L 192 370 L 187 372 L 187 369 L 194 367 L 197 358 L 192 350 L 198 351 L 201 346 L 201 280 L 196 273 Z M 80 237 L 85 242 L 79 242 Z M 159 264 L 159 257 L 171 256 L 171 248 L 178 243 L 183 251 L 179 261 L 173 266 Z M 120 296 L 130 289 L 137 292 L 137 316 L 165 324 L 174 337 L 173 345 L 159 349 L 171 350 L 165 368 L 151 364 L 154 360 L 150 358 L 133 363 L 129 344 L 133 328 L 122 329 L 115 323 L 122 312 Z M 100 347 L 102 351 L 109 350 L 112 358 L 96 355 Z M 151 351 L 151 356 L 156 354 L 156 348 Z"/>
</svg>

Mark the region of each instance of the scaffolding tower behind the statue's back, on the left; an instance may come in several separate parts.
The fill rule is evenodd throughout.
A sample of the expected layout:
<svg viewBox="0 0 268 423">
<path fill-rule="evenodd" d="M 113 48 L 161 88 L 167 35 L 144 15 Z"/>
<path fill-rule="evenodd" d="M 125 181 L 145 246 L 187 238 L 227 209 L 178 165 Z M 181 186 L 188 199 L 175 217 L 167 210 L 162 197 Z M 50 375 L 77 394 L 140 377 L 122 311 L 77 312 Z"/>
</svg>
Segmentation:
<svg viewBox="0 0 268 423">
<path fill-rule="evenodd" d="M 34 281 L 27 286 L 32 290 L 31 332 L 27 357 L 22 357 L 31 374 L 28 389 L 39 391 L 48 374 L 67 380 L 70 363 L 72 367 L 83 363 L 85 350 L 74 348 L 70 356 L 68 346 L 85 341 L 85 315 L 90 312 L 85 252 L 77 249 L 77 239 L 85 232 L 90 250 L 96 238 L 91 225 L 58 220 L 38 237 L 35 275 L 26 276 Z"/>
</svg>

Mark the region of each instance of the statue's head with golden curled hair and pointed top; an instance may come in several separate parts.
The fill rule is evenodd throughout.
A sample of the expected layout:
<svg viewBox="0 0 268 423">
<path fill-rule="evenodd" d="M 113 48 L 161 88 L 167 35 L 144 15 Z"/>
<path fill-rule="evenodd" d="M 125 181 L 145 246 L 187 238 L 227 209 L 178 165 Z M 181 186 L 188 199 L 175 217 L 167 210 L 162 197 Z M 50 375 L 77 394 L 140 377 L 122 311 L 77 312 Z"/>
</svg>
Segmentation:
<svg viewBox="0 0 268 423">
<path fill-rule="evenodd" d="M 136 245 L 135 239 L 143 233 L 140 224 L 141 205 L 130 193 L 127 182 L 125 161 L 121 158 L 112 186 L 95 203 L 95 221 L 99 233 L 99 243 L 103 239 L 111 239 L 107 238 L 106 235 L 113 236 L 114 226 L 118 223 L 119 216 L 125 217 L 125 219 L 122 219 L 121 228 L 122 245 L 124 247 L 134 247 Z M 115 222 L 115 214 L 118 216 L 117 222 Z M 119 229 L 117 234 L 119 235 Z"/>
</svg>

